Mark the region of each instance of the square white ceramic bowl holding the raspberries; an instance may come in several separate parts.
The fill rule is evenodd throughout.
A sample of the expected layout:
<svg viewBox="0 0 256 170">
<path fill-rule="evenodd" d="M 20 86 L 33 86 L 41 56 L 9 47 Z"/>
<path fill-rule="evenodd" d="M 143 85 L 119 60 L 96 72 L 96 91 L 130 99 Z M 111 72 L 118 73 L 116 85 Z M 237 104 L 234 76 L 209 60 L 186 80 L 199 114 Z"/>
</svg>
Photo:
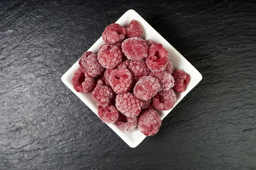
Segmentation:
<svg viewBox="0 0 256 170">
<path fill-rule="evenodd" d="M 181 99 L 183 99 L 186 94 L 189 93 L 189 91 L 192 90 L 192 88 L 197 85 L 201 79 L 202 75 L 191 65 L 175 48 L 172 47 L 169 42 L 167 42 L 154 28 L 152 28 L 136 11 L 130 9 L 125 14 L 122 15 L 122 17 L 119 18 L 119 20 L 116 21 L 116 23 L 126 27 L 131 20 L 137 20 L 142 28 L 143 28 L 143 35 L 142 38 L 144 40 L 151 39 L 155 40 L 158 43 L 161 43 L 164 48 L 166 48 L 167 51 L 169 51 L 169 59 L 174 65 L 174 69 L 180 69 L 186 72 L 190 75 L 191 79 L 189 84 L 186 87 L 186 90 L 183 93 L 177 93 L 177 101 L 174 105 L 174 107 L 180 102 Z M 99 47 L 101 45 L 105 44 L 105 42 L 102 40 L 102 37 L 99 38 L 92 46 L 88 49 L 88 51 L 99 51 Z M 73 85 L 71 84 L 71 78 L 73 76 L 73 73 L 76 71 L 76 69 L 79 68 L 78 64 L 79 60 L 61 77 L 62 82 L 64 82 L 65 85 L 67 85 L 68 88 L 70 88 L 71 91 L 73 91 L 76 96 L 78 96 L 81 101 L 84 102 L 85 105 L 87 105 L 88 108 L 90 108 L 97 116 L 97 105 L 96 101 L 93 99 L 93 95 L 91 92 L 87 94 L 78 93 L 73 88 Z M 169 111 L 157 111 L 160 115 L 161 120 L 165 118 L 165 116 L 170 113 L 172 109 Z M 101 121 L 99 119 L 99 121 Z M 103 123 L 103 122 L 102 122 Z M 125 133 L 122 132 L 119 128 L 116 127 L 114 124 L 107 124 L 118 136 L 120 136 L 121 139 L 123 139 L 130 147 L 136 147 L 140 142 L 142 142 L 145 139 L 145 135 L 140 133 L 140 130 L 135 130 L 132 133 Z"/>
</svg>

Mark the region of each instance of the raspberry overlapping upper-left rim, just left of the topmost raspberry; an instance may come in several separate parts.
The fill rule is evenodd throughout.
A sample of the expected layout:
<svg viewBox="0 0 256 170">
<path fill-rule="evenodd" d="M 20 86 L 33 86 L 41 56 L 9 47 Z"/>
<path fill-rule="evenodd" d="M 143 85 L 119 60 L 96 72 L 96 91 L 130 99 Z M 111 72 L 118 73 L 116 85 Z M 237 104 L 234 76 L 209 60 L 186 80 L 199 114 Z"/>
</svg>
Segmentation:
<svg viewBox="0 0 256 170">
<path fill-rule="evenodd" d="M 116 44 L 122 42 L 125 39 L 125 28 L 119 24 L 112 23 L 106 26 L 104 32 L 102 33 L 102 39 L 105 43 Z"/>
</svg>

